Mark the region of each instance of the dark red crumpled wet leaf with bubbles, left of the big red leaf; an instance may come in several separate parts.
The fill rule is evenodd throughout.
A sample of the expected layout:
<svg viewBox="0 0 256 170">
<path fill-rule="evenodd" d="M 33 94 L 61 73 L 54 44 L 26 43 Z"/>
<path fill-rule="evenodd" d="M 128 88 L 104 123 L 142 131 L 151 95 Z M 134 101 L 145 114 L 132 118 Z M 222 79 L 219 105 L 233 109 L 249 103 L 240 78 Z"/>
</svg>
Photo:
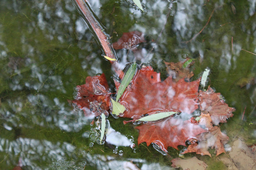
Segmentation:
<svg viewBox="0 0 256 170">
<path fill-rule="evenodd" d="M 108 114 L 110 109 L 110 92 L 104 73 L 100 76 L 88 76 L 86 84 L 76 86 L 75 99 L 72 103 L 76 109 L 82 109 L 85 116 L 98 116 L 102 111 Z"/>
</svg>

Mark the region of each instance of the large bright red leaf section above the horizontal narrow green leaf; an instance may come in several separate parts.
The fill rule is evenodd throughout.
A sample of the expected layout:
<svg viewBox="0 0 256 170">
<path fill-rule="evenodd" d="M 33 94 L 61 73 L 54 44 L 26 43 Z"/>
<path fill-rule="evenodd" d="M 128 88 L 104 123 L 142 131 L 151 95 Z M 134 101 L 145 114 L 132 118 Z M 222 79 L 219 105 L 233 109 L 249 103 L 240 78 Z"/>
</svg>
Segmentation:
<svg viewBox="0 0 256 170">
<path fill-rule="evenodd" d="M 139 118 L 157 111 L 191 114 L 198 108 L 195 100 L 199 94 L 199 82 L 200 79 L 185 82 L 184 78 L 174 82 L 171 77 L 161 82 L 160 73 L 150 66 L 143 66 L 120 97 L 119 102 L 126 108 L 123 117 Z M 118 89 L 118 83 L 116 85 Z"/>
</svg>

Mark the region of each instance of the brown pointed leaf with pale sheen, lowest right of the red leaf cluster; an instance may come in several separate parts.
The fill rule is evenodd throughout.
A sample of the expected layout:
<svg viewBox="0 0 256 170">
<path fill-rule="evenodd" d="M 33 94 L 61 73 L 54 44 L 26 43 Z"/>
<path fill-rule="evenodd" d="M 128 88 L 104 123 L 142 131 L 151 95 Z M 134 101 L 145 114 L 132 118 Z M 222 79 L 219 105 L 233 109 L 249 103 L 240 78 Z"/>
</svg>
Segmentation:
<svg viewBox="0 0 256 170">
<path fill-rule="evenodd" d="M 210 152 L 208 152 L 208 148 L 214 148 L 216 151 L 216 156 L 221 153 L 226 153 L 224 149 L 224 145 L 228 142 L 229 138 L 227 135 L 220 131 L 220 127 L 214 126 L 209 129 L 208 132 L 201 133 L 197 135 L 198 141 L 194 141 L 187 147 L 187 150 L 183 152 L 196 152 L 201 155 L 209 155 L 211 157 Z"/>
</svg>

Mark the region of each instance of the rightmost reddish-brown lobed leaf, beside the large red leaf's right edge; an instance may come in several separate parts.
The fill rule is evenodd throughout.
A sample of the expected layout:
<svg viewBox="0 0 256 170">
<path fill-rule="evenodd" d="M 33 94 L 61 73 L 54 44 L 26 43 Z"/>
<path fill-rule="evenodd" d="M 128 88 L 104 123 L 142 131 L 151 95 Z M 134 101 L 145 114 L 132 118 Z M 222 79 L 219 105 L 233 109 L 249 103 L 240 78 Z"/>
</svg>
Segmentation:
<svg viewBox="0 0 256 170">
<path fill-rule="evenodd" d="M 227 122 L 227 118 L 233 116 L 232 112 L 236 109 L 228 107 L 220 93 L 215 93 L 210 86 L 203 92 L 199 92 L 201 112 L 209 113 L 212 118 L 212 123 L 218 125 L 220 122 Z"/>
</svg>

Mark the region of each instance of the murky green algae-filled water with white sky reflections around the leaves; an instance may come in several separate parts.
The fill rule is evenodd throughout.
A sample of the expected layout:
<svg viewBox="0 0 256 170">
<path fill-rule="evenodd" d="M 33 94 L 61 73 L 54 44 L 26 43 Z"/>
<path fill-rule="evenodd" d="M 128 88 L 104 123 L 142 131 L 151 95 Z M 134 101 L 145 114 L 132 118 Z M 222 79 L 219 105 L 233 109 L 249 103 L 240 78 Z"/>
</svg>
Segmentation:
<svg viewBox="0 0 256 170">
<path fill-rule="evenodd" d="M 143 3 L 146 14 L 131 1 L 90 1 L 112 42 L 123 32 L 144 33 L 146 42 L 138 46 L 141 50 L 116 50 L 122 67 L 131 61 L 150 63 L 164 79 L 164 61 L 195 58 L 192 79 L 208 67 L 207 86 L 236 108 L 234 117 L 221 126 L 230 137 L 228 145 L 238 137 L 248 145 L 255 144 L 255 1 Z M 19 162 L 23 170 L 135 169 L 134 164 L 140 169 L 172 169 L 170 160 L 178 157 L 179 151 L 169 147 L 169 156 L 164 156 L 152 145 L 137 146 L 137 130 L 132 124 L 124 126 L 122 118 L 108 118 L 109 144 L 99 145 L 97 129 L 90 125 L 92 119 L 73 110 L 67 101 L 73 99 L 76 85 L 99 73 L 105 73 L 114 91 L 111 77 L 115 73 L 101 55 L 100 46 L 71 1 L 1 0 L 0 169 L 13 169 Z M 196 154 L 185 155 L 193 156 Z M 223 167 L 216 158 L 202 159 L 208 169 Z"/>
</svg>

